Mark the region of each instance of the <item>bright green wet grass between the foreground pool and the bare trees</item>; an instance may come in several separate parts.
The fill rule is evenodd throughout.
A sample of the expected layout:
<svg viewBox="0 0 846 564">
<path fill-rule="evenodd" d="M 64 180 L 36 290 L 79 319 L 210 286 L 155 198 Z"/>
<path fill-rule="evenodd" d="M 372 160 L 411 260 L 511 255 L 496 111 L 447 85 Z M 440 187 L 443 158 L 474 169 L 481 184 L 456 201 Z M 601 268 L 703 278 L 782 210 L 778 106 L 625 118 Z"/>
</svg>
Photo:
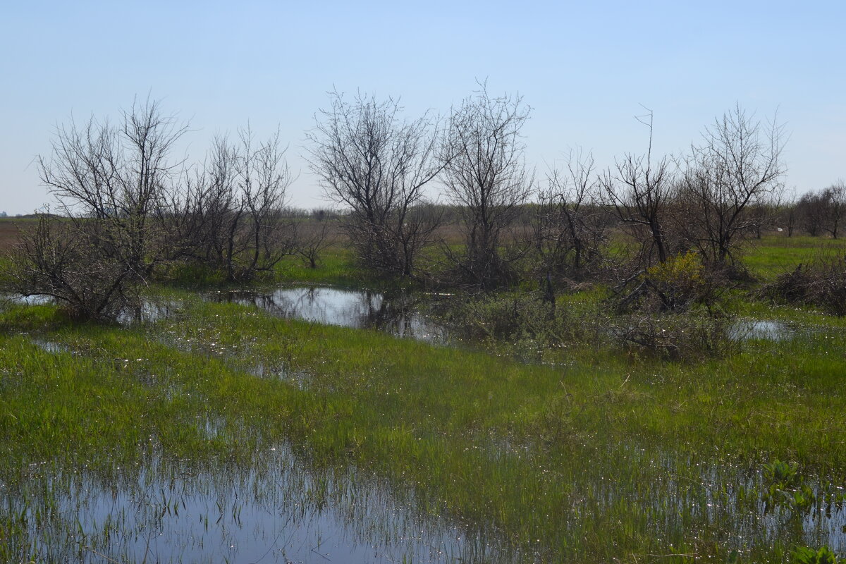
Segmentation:
<svg viewBox="0 0 846 564">
<path fill-rule="evenodd" d="M 30 464 L 114 474 L 155 454 L 249 467 L 289 442 L 316 468 L 352 465 L 413 490 L 423 513 L 492 527 L 520 560 L 723 562 L 738 550 L 781 562 L 795 545 L 844 544 L 832 533 L 846 474 L 839 325 L 696 363 L 574 344 L 558 364 L 527 365 L 174 297 L 180 315 L 129 328 L 8 309 L 7 491 Z M 64 348 L 11 334 L 39 326 Z M 767 505 L 762 468 L 776 460 L 806 477 L 808 504 Z"/>
</svg>

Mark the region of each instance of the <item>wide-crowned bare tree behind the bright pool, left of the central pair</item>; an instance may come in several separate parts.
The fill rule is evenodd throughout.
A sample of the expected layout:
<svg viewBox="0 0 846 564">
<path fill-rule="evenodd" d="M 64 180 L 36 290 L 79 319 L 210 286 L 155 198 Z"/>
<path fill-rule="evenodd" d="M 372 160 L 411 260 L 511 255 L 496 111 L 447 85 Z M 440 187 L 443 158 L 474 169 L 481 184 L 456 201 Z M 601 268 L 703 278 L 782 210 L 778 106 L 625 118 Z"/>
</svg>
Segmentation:
<svg viewBox="0 0 846 564">
<path fill-rule="evenodd" d="M 344 225 L 359 259 L 399 276 L 415 273 L 437 218 L 420 213 L 426 184 L 443 167 L 435 158 L 437 120 L 400 118 L 398 101 L 332 92 L 331 106 L 306 134 L 308 161 L 327 196 L 349 207 Z"/>
</svg>

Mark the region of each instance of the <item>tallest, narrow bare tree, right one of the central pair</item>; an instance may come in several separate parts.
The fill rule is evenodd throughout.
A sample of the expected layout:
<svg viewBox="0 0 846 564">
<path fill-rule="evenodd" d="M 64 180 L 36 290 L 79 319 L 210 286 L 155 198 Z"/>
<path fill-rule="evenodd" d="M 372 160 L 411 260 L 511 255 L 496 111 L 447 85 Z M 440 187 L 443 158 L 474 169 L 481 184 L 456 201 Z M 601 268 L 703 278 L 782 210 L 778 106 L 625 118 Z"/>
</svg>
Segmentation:
<svg viewBox="0 0 846 564">
<path fill-rule="evenodd" d="M 521 96 L 492 97 L 485 83 L 480 86 L 453 109 L 441 156 L 442 181 L 466 242 L 466 254 L 451 258 L 466 282 L 488 288 L 509 277 L 503 233 L 519 216 L 534 176 L 520 138 L 531 108 Z"/>
</svg>

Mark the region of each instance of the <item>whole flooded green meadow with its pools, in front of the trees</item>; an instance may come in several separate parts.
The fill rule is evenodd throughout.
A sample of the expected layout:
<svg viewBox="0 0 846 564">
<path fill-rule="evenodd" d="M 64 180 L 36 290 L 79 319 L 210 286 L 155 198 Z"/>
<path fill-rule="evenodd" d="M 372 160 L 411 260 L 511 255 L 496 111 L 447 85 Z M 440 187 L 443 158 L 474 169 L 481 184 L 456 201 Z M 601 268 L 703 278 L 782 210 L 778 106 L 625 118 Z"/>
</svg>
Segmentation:
<svg viewBox="0 0 846 564">
<path fill-rule="evenodd" d="M 846 551 L 837 326 L 749 316 L 726 359 L 574 344 L 523 364 L 445 346 L 449 331 L 408 297 L 168 304 L 142 323 L 37 335 L 18 333 L 50 306 L 6 314 L 19 329 L 0 337 L 3 560 Z"/>
</svg>

